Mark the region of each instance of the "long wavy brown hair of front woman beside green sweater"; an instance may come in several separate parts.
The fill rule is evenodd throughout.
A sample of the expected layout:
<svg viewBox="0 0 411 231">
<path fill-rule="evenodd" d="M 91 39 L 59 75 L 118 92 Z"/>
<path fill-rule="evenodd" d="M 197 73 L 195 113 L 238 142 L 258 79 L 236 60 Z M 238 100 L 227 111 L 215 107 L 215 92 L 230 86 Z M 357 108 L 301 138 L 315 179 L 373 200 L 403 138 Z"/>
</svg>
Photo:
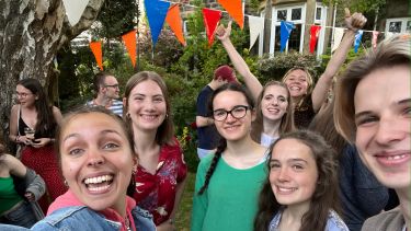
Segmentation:
<svg viewBox="0 0 411 231">
<path fill-rule="evenodd" d="M 324 230 L 330 209 L 336 208 L 338 164 L 334 150 L 318 134 L 296 130 L 281 136 L 271 147 L 266 163 L 267 177 L 259 197 L 259 209 L 254 219 L 254 231 L 265 231 L 272 218 L 281 210 L 270 183 L 270 161 L 276 143 L 283 139 L 296 139 L 311 150 L 318 170 L 317 187 L 311 196 L 308 211 L 301 218 L 300 231 Z"/>
</svg>

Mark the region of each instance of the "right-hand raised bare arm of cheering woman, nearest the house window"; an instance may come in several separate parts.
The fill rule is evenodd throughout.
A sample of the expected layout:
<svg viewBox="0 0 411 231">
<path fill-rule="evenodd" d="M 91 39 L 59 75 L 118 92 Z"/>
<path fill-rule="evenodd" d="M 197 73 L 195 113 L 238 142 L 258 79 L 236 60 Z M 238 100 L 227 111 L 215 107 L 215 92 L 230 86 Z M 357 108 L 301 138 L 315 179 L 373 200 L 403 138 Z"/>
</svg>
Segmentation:
<svg viewBox="0 0 411 231">
<path fill-rule="evenodd" d="M 312 107 L 315 112 L 321 107 L 321 104 L 327 97 L 327 92 L 331 86 L 332 78 L 336 74 L 341 66 L 346 59 L 346 55 L 350 51 L 351 46 L 353 45 L 355 33 L 362 28 L 367 19 L 362 13 L 350 14 L 350 10 L 345 9 L 345 26 L 346 32 L 339 48 L 335 50 L 334 55 L 331 57 L 330 61 L 327 65 L 326 71 L 318 79 L 315 89 L 312 90 Z"/>
</svg>

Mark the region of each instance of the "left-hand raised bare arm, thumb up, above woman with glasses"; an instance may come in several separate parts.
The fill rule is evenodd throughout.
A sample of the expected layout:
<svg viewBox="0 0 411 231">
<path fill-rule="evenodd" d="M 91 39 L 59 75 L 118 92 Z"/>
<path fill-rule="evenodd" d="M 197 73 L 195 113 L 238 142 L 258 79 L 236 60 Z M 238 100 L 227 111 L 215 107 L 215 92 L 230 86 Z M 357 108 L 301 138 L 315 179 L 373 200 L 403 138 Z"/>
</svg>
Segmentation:
<svg viewBox="0 0 411 231">
<path fill-rule="evenodd" d="M 256 79 L 256 77 L 253 73 L 251 73 L 250 68 L 244 61 L 244 59 L 236 50 L 235 46 L 230 41 L 230 34 L 231 21 L 228 23 L 227 27 L 224 27 L 224 25 L 221 24 L 216 30 L 217 38 L 221 41 L 221 44 L 224 48 L 226 48 L 226 51 L 230 57 L 232 65 L 235 66 L 236 70 L 242 76 L 247 88 L 251 91 L 251 94 L 256 101 L 263 86 L 261 85 L 259 79 Z"/>
</svg>

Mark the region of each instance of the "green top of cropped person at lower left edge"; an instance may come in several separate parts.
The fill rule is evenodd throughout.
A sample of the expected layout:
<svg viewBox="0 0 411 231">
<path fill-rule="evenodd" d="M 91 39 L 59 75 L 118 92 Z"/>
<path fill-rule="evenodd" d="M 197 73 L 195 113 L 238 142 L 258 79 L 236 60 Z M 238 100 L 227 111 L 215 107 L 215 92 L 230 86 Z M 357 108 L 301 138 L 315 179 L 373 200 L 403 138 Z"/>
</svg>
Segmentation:
<svg viewBox="0 0 411 231">
<path fill-rule="evenodd" d="M 0 215 L 20 203 L 22 197 L 14 189 L 12 177 L 0 177 Z"/>
</svg>

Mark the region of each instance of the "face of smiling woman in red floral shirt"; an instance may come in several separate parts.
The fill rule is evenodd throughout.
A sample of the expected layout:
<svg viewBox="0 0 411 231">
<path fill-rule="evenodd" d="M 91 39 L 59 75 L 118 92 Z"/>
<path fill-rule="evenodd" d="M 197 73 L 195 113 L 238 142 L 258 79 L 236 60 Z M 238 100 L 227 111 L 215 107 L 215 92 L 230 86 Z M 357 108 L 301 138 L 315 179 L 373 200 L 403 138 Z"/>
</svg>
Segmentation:
<svg viewBox="0 0 411 231">
<path fill-rule="evenodd" d="M 138 83 L 128 99 L 128 113 L 134 127 L 157 130 L 164 122 L 167 105 L 160 86 L 152 80 Z"/>
</svg>

